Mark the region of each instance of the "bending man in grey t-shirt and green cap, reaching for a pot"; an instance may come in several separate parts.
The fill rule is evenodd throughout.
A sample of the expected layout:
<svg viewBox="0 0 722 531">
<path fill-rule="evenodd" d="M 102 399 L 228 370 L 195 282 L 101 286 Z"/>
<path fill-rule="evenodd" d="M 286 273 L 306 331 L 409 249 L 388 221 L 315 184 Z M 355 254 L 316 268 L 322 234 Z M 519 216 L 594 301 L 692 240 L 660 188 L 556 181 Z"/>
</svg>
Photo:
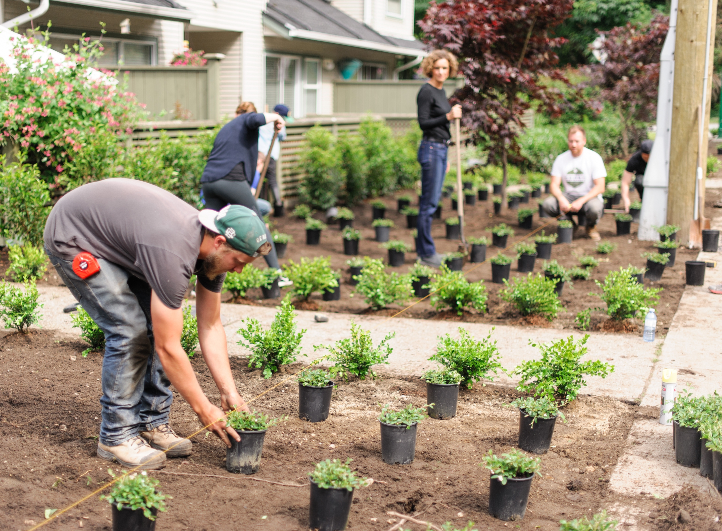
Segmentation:
<svg viewBox="0 0 722 531">
<path fill-rule="evenodd" d="M 271 250 L 263 220 L 244 206 L 199 212 L 154 185 L 108 179 L 61 198 L 44 239 L 58 275 L 105 333 L 97 454 L 142 470 L 163 468 L 166 455 L 190 455 L 191 441 L 169 426 L 170 384 L 227 446 L 229 437 L 239 441 L 224 412 L 248 406 L 230 370 L 220 291 L 227 271 L 240 273 Z M 193 274 L 199 342 L 220 408 L 181 346 Z"/>
</svg>

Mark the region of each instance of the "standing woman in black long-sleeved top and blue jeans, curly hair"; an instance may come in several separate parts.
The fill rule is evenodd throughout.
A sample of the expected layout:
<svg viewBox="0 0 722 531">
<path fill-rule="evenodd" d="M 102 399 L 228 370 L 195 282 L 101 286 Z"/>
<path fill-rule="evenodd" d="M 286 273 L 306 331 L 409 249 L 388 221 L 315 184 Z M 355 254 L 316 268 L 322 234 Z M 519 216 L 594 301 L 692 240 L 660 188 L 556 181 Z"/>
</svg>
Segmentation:
<svg viewBox="0 0 722 531">
<path fill-rule="evenodd" d="M 444 177 L 449 169 L 446 160 L 447 146 L 451 140 L 449 123 L 455 118 L 461 118 L 461 105 L 451 107 L 443 87 L 449 76 L 456 76 L 458 62 L 453 53 L 435 50 L 424 58 L 421 68 L 430 79 L 428 83 L 422 85 L 416 97 L 419 127 L 424 132 L 418 155 L 421 164 L 421 198 L 416 245 L 421 263 L 438 268 L 443 256 L 436 252 L 431 237 L 431 220 L 441 197 Z"/>
</svg>

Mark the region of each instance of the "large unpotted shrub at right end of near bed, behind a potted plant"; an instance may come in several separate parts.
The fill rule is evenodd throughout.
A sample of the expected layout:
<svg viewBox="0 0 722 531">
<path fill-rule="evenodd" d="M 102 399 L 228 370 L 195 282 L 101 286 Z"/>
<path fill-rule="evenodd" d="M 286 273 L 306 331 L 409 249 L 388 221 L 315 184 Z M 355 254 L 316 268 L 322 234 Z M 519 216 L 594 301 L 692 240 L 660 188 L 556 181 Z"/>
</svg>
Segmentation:
<svg viewBox="0 0 722 531">
<path fill-rule="evenodd" d="M 562 403 L 571 402 L 586 385 L 584 375 L 605 378 L 614 372 L 614 365 L 580 359 L 587 353 L 586 342 L 589 335 L 575 342 L 574 336 L 557 339 L 550 343 L 532 343 L 541 351 L 541 358 L 522 361 L 511 374 L 521 376 L 516 389 L 521 392 L 533 392 L 535 397 L 546 397 Z"/>
</svg>

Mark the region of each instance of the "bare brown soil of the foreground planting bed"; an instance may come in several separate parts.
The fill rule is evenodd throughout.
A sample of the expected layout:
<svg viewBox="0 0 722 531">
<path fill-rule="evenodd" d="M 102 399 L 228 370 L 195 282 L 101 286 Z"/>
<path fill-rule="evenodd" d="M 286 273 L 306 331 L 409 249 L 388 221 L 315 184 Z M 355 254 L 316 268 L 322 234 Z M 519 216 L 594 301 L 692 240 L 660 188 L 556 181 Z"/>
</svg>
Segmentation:
<svg viewBox="0 0 722 531">
<path fill-rule="evenodd" d="M 45 509 L 61 509 L 87 496 L 108 480 L 109 463 L 97 457 L 100 426 L 102 356 L 82 358 L 81 341 L 41 330 L 0 338 L 0 528 L 26 530 L 43 520 Z M 196 356 L 193 367 L 204 392 L 218 401 L 212 377 Z M 231 359 L 246 399 L 300 368 L 284 368 L 271 380 Z M 386 465 L 380 458 L 378 404 L 425 404 L 418 379 L 381 374 L 375 381 L 342 383 L 334 390 L 331 416 L 308 424 L 297 418 L 297 385 L 289 381 L 259 398 L 256 408 L 290 420 L 266 435 L 258 479 L 303 485 L 258 482 L 225 470 L 225 447 L 214 436 L 193 437 L 193 455 L 169 460 L 162 472 L 163 493 L 173 496 L 157 530 L 305 530 L 308 528 L 307 473 L 319 460 L 351 457 L 353 467 L 373 485 L 355 493 L 349 520 L 352 530 L 388 530 L 387 511 L 422 513 L 439 525 L 479 530 L 559 528 L 560 519 L 575 519 L 602 508 L 632 506 L 640 529 L 718 529 L 710 514 L 720 514 L 719 500 L 695 491 L 658 500 L 651 493 L 628 498 L 609 491 L 616 465 L 635 418 L 656 418 L 657 408 L 642 408 L 603 396 L 580 395 L 565 408 L 568 424 L 557 424 L 552 451 L 541 456 L 544 478 L 535 478 L 529 510 L 522 522 L 500 522 L 487 512 L 490 473 L 478 464 L 489 449 L 500 454 L 516 445 L 518 413 L 504 407 L 517 393 L 480 384 L 463 390 L 458 415 L 448 421 L 427 419 L 419 426 L 412 465 Z M 171 424 L 180 434 L 199 429 L 196 416 L 178 395 Z M 118 466 L 112 467 L 118 470 Z M 692 522 L 677 523 L 684 508 Z M 81 526 L 82 524 L 82 526 Z M 704 524 L 704 525 L 703 525 Z M 630 525 L 630 522 L 627 522 Z M 708 527 L 704 527 L 708 526 Z M 97 495 L 46 528 L 110 529 L 110 507 Z M 405 529 L 422 527 L 404 525 Z M 624 529 L 625 527 L 621 527 Z"/>
</svg>

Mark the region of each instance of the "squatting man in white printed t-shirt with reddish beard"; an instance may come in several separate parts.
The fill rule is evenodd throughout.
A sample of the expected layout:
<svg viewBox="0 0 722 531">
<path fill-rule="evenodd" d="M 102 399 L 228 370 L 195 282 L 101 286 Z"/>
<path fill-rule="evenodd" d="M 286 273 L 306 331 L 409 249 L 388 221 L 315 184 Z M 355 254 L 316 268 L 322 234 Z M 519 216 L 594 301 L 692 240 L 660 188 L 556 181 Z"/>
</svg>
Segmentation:
<svg viewBox="0 0 722 531">
<path fill-rule="evenodd" d="M 563 219 L 571 219 L 578 214 L 585 220 L 586 235 L 591 240 L 599 241 L 596 222 L 604 214 L 604 177 L 606 169 L 599 153 L 584 147 L 586 133 L 580 126 L 572 126 L 567 133 L 569 151 L 560 154 L 552 166 L 552 182 L 549 191 L 552 193 L 541 208 L 549 216 L 563 214 Z M 562 192 L 560 185 L 564 185 Z"/>
</svg>

